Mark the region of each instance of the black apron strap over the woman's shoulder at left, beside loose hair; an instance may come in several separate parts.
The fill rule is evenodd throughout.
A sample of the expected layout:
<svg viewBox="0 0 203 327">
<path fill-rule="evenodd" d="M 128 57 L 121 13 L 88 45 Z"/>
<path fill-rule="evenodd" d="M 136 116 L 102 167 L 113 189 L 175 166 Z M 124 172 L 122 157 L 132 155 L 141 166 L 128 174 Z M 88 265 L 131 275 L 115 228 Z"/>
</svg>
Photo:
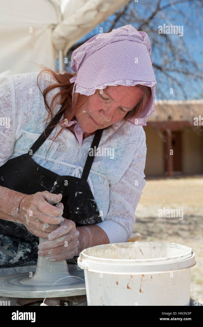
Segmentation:
<svg viewBox="0 0 203 327">
<path fill-rule="evenodd" d="M 44 135 L 44 132 L 42 132 L 42 134 L 38 137 L 38 139 L 35 141 L 35 143 L 29 149 L 28 154 L 30 156 L 32 156 L 36 152 L 36 150 L 38 150 L 38 148 L 46 141 L 46 139 L 49 137 L 49 135 L 51 134 L 52 130 L 54 129 L 55 125 L 61 119 L 61 117 L 63 115 L 63 111 L 61 111 L 63 109 L 63 106 L 64 105 L 61 106 L 61 108 L 59 109 L 59 111 L 53 117 L 52 121 L 46 127 L 46 129 L 45 129 L 46 136 Z M 30 150 L 32 150 L 32 154 L 29 153 Z"/>
</svg>

